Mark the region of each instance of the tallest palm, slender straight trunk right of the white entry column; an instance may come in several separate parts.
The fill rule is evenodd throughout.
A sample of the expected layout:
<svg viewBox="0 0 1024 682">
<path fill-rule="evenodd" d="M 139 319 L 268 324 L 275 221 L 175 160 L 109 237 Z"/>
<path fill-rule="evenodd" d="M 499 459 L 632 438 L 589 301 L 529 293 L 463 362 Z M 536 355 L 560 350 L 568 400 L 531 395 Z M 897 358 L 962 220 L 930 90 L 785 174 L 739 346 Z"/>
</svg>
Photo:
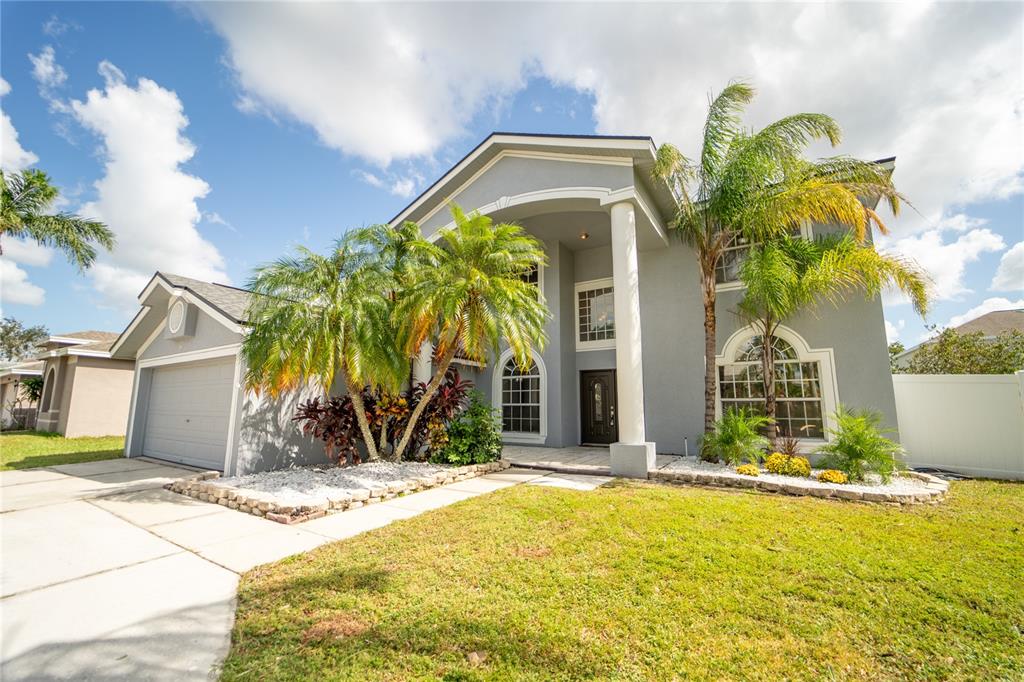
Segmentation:
<svg viewBox="0 0 1024 682">
<path fill-rule="evenodd" d="M 849 227 L 863 241 L 872 223 L 885 231 L 864 203 L 885 199 L 896 213 L 901 200 L 889 173 L 877 164 L 845 157 L 804 159 L 813 140 L 839 144 L 839 125 L 828 116 L 797 114 L 758 132 L 742 128 L 740 114 L 753 98 L 753 87 L 730 83 L 711 101 L 699 159 L 690 161 L 663 144 L 653 171 L 675 190 L 674 231 L 693 248 L 700 269 L 706 433 L 715 425 L 715 268 L 730 240 L 760 242 L 814 222 Z"/>
</svg>

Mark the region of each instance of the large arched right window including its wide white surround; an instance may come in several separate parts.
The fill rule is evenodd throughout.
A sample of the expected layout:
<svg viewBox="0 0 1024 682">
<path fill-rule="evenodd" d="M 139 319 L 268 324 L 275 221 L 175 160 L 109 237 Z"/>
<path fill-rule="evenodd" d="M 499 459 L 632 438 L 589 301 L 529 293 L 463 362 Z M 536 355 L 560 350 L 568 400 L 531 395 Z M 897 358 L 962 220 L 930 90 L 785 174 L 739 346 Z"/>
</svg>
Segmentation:
<svg viewBox="0 0 1024 682">
<path fill-rule="evenodd" d="M 745 408 L 764 412 L 761 371 L 762 336 L 748 327 L 733 334 L 716 358 L 718 414 Z M 774 334 L 775 421 L 779 433 L 804 440 L 824 440 L 839 406 L 831 348 L 810 348 L 793 330 Z"/>
</svg>

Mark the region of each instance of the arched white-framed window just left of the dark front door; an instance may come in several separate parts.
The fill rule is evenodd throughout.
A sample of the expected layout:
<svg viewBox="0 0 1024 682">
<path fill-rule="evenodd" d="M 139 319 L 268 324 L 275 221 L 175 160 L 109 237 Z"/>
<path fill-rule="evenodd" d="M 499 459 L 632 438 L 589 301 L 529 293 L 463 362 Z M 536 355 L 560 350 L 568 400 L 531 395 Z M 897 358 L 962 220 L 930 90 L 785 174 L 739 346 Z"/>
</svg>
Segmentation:
<svg viewBox="0 0 1024 682">
<path fill-rule="evenodd" d="M 501 413 L 506 442 L 544 442 L 548 435 L 548 378 L 544 360 L 530 353 L 528 367 L 519 367 L 511 350 L 495 367 L 492 404 Z"/>
</svg>

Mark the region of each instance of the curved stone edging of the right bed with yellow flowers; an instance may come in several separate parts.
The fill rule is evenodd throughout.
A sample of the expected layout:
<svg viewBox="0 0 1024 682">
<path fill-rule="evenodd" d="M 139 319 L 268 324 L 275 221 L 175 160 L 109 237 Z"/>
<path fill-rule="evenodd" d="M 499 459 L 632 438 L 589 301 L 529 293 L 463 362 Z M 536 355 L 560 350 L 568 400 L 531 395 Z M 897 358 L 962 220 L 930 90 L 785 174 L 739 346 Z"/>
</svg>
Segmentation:
<svg viewBox="0 0 1024 682">
<path fill-rule="evenodd" d="M 793 478 L 792 482 L 776 480 L 759 480 L 757 476 L 744 476 L 733 472 L 696 472 L 696 471 L 651 471 L 650 480 L 659 483 L 711 485 L 715 487 L 741 487 L 756 489 L 762 493 L 781 495 L 808 496 L 854 502 L 871 502 L 877 504 L 913 505 L 938 504 L 945 498 L 949 482 L 931 474 L 919 471 L 903 471 L 901 475 L 914 478 L 925 483 L 926 489 L 916 493 L 891 493 L 859 491 L 839 483 L 822 483 L 811 479 Z"/>
</svg>

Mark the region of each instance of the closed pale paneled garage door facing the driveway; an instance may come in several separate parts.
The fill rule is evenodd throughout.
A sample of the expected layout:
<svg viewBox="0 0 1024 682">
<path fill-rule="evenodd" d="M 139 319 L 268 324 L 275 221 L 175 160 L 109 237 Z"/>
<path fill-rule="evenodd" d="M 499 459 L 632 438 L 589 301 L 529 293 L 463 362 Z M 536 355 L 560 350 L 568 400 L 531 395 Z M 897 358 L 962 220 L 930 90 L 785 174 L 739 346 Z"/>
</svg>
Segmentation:
<svg viewBox="0 0 1024 682">
<path fill-rule="evenodd" d="M 153 371 L 142 454 L 222 470 L 234 356 Z"/>
</svg>

